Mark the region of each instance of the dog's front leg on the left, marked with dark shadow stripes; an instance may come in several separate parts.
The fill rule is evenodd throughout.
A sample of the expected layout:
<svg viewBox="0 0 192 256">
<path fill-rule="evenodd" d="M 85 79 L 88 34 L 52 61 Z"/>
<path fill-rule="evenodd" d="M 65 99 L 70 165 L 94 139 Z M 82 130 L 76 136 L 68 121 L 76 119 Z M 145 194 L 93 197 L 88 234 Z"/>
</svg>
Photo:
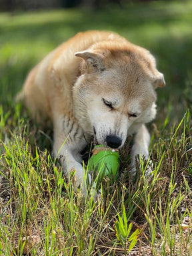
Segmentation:
<svg viewBox="0 0 192 256">
<path fill-rule="evenodd" d="M 57 118 L 54 122 L 53 155 L 61 162 L 67 177 L 75 171 L 75 185 L 82 186 L 85 194 L 85 173 L 81 165 L 81 151 L 87 145 L 83 129 L 69 117 Z"/>
</svg>

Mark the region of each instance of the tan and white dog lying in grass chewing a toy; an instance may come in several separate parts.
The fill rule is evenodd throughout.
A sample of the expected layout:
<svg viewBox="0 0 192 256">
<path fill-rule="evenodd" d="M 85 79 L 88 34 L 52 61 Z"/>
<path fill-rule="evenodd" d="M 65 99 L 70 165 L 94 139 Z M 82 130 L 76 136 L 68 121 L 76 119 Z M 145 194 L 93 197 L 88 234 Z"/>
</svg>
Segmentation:
<svg viewBox="0 0 192 256">
<path fill-rule="evenodd" d="M 79 185 L 84 174 L 81 151 L 94 136 L 98 143 L 119 149 L 127 135 L 135 134 L 133 165 L 136 155 L 149 157 L 145 123 L 156 114 L 155 88 L 164 85 L 149 51 L 115 33 L 87 31 L 34 67 L 23 95 L 33 117 L 53 122 L 53 153 L 61 156 L 66 175 L 75 169 Z"/>
</svg>

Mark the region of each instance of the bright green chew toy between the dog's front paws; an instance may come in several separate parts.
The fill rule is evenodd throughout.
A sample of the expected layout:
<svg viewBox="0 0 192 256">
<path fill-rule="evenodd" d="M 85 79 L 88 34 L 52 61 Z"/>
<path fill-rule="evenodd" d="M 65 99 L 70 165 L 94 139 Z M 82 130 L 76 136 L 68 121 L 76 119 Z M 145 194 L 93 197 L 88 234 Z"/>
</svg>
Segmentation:
<svg viewBox="0 0 192 256">
<path fill-rule="evenodd" d="M 105 145 L 97 145 L 92 150 L 93 155 L 89 159 L 88 169 L 94 172 L 99 182 L 104 176 L 117 177 L 119 169 L 119 152 L 117 149 L 110 149 Z"/>
</svg>

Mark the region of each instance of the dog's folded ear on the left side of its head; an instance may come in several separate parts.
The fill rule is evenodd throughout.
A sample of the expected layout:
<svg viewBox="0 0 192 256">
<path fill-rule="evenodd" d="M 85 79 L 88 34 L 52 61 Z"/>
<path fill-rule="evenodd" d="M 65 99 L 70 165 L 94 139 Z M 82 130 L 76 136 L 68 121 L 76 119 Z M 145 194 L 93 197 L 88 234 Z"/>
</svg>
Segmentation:
<svg viewBox="0 0 192 256">
<path fill-rule="evenodd" d="M 85 59 L 87 65 L 94 71 L 103 71 L 103 55 L 101 53 L 93 53 L 91 51 L 78 51 L 75 56 Z"/>
</svg>

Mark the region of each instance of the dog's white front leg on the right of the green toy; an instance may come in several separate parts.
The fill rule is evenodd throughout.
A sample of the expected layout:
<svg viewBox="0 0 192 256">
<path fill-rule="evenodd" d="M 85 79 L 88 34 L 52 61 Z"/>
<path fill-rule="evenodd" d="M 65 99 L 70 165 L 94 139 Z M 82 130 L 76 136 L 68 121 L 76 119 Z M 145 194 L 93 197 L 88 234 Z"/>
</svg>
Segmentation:
<svg viewBox="0 0 192 256">
<path fill-rule="evenodd" d="M 147 128 L 145 125 L 142 125 L 139 131 L 135 134 L 135 138 L 133 141 L 133 147 L 131 149 L 131 159 L 132 159 L 132 166 L 133 169 L 131 170 L 131 173 L 135 175 L 136 173 L 136 167 L 135 167 L 135 161 L 136 157 L 139 155 L 139 157 L 145 157 L 145 159 L 149 158 L 149 143 L 150 143 L 150 135 L 147 131 Z M 151 168 L 147 167 L 147 170 L 145 172 L 145 175 L 149 175 L 151 173 Z"/>
</svg>

